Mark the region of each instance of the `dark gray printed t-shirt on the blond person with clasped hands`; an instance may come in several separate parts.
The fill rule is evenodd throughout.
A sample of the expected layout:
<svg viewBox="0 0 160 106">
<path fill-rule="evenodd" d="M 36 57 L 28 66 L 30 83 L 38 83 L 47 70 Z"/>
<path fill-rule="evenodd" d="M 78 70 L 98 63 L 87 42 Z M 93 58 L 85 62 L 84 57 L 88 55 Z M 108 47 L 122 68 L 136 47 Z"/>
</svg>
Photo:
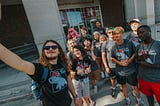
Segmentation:
<svg viewBox="0 0 160 106">
<path fill-rule="evenodd" d="M 135 53 L 135 48 L 132 42 L 124 39 L 123 44 L 115 45 L 111 49 L 111 57 L 117 59 L 118 61 L 129 59 Z M 128 66 L 120 66 L 116 64 L 116 70 L 121 76 L 131 75 L 136 71 L 135 63 L 132 61 Z"/>
</svg>

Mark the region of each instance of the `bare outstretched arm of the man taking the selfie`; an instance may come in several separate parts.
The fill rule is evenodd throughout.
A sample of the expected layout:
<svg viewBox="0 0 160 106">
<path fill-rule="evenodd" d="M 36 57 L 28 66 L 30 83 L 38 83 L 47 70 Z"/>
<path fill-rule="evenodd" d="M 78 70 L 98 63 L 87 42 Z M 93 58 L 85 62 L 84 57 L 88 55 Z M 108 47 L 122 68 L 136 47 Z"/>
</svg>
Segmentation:
<svg viewBox="0 0 160 106">
<path fill-rule="evenodd" d="M 2 44 L 0 44 L 0 59 L 12 68 L 23 71 L 29 75 L 33 75 L 35 72 L 35 67 L 32 63 L 21 59 Z"/>
</svg>

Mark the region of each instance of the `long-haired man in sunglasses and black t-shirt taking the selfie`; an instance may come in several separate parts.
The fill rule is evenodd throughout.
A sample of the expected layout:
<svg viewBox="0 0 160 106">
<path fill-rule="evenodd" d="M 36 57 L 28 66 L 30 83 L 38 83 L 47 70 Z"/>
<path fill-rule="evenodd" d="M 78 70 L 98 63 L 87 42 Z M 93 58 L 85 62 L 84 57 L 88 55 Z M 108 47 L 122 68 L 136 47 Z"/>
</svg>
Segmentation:
<svg viewBox="0 0 160 106">
<path fill-rule="evenodd" d="M 47 40 L 44 43 L 38 63 L 21 59 L 2 44 L 0 59 L 12 68 L 25 72 L 41 86 L 43 106 L 70 106 L 72 99 L 68 90 L 77 106 L 78 99 L 71 81 L 68 60 L 56 41 Z M 46 81 L 42 82 L 44 67 L 48 68 L 48 75 Z"/>
</svg>

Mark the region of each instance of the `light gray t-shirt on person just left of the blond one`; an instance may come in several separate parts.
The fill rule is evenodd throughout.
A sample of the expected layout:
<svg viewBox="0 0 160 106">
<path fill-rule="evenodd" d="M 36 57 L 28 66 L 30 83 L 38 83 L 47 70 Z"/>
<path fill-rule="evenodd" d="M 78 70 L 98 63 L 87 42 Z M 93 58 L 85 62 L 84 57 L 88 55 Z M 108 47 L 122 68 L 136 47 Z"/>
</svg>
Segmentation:
<svg viewBox="0 0 160 106">
<path fill-rule="evenodd" d="M 110 60 L 111 49 L 115 45 L 115 41 L 107 40 L 102 44 L 101 51 L 106 53 L 106 61 L 109 68 L 116 68 L 116 64 Z"/>
</svg>

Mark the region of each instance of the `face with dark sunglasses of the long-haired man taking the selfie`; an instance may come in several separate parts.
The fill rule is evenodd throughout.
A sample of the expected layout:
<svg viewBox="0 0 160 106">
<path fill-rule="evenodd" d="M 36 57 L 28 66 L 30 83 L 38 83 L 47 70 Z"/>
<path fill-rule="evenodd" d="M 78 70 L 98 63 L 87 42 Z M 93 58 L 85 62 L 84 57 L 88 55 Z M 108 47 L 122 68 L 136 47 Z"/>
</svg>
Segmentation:
<svg viewBox="0 0 160 106">
<path fill-rule="evenodd" d="M 55 43 L 47 42 L 43 49 L 47 59 L 52 60 L 58 58 L 59 50 Z"/>
</svg>

